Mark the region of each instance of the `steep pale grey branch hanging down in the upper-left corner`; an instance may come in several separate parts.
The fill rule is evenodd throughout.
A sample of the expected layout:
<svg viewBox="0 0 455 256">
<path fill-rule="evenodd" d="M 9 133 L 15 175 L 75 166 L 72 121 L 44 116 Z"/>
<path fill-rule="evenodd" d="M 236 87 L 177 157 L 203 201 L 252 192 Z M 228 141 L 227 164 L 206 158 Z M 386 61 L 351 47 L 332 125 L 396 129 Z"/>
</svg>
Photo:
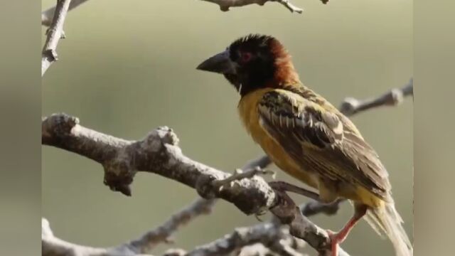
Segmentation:
<svg viewBox="0 0 455 256">
<path fill-rule="evenodd" d="M 50 64 L 57 60 L 57 45 L 60 38 L 63 36 L 63 23 L 65 23 L 66 14 L 71 0 L 57 0 L 55 6 L 55 15 L 53 16 L 52 23 L 47 31 L 48 37 L 46 38 L 43 53 L 41 57 L 41 76 L 48 70 Z"/>
</svg>

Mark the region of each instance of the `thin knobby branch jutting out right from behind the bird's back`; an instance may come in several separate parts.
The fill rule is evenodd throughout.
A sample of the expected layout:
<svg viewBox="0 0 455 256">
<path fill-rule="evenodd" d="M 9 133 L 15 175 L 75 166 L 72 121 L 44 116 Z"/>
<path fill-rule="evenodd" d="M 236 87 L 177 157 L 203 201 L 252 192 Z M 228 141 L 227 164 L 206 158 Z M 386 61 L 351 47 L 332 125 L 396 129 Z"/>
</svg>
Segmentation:
<svg viewBox="0 0 455 256">
<path fill-rule="evenodd" d="M 370 110 L 373 107 L 396 106 L 403 102 L 404 98 L 414 94 L 413 80 L 401 88 L 394 88 L 384 95 L 366 100 L 357 100 L 353 97 L 347 97 L 341 103 L 340 111 L 348 116 L 364 110 Z"/>
</svg>

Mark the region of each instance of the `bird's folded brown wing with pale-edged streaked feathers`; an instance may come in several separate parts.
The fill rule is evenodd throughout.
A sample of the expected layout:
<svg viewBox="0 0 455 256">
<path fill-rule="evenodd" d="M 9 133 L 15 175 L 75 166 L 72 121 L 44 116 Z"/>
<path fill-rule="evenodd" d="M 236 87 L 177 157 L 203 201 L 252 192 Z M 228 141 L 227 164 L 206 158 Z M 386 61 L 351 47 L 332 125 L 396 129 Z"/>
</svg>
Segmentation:
<svg viewBox="0 0 455 256">
<path fill-rule="evenodd" d="M 302 169 L 336 182 L 358 184 L 387 198 L 390 183 L 378 154 L 338 111 L 285 90 L 267 92 L 258 106 L 262 127 Z"/>
</svg>

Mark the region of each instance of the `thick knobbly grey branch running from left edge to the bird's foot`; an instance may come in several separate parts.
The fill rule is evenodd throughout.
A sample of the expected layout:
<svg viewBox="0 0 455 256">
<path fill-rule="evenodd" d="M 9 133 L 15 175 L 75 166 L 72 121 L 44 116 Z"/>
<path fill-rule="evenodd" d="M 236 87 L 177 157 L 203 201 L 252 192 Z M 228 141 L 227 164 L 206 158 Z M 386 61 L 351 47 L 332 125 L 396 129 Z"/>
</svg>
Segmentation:
<svg viewBox="0 0 455 256">
<path fill-rule="evenodd" d="M 289 207 L 287 200 L 280 199 L 287 195 L 274 191 L 262 177 L 236 179 L 222 189 L 214 186 L 230 175 L 183 155 L 176 134 L 167 127 L 150 132 L 140 141 L 127 141 L 82 127 L 75 117 L 53 114 L 43 119 L 41 142 L 102 164 L 105 184 L 113 191 L 131 195 L 129 185 L 137 171 L 159 174 L 195 188 L 203 198 L 223 198 L 248 215 L 269 209 L 282 223 L 289 224 L 292 235 L 306 240 L 321 255 L 330 250 L 327 233 L 301 216 L 295 204 Z"/>
</svg>

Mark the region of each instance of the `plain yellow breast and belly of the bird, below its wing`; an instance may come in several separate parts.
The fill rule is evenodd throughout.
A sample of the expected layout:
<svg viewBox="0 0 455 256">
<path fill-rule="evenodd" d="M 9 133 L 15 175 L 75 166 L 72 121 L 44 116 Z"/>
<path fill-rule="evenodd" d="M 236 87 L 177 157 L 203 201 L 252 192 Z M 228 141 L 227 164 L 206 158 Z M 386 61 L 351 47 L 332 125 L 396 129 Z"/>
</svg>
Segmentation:
<svg viewBox="0 0 455 256">
<path fill-rule="evenodd" d="M 251 134 L 264 152 L 272 159 L 279 169 L 294 176 L 294 178 L 306 183 L 307 185 L 317 188 L 317 178 L 309 172 L 304 171 L 291 157 L 284 151 L 283 147 L 278 144 L 259 124 L 259 114 L 257 105 L 266 92 L 270 92 L 272 88 L 255 90 L 243 96 L 238 105 L 240 119 L 242 119 L 247 132 Z"/>
</svg>

